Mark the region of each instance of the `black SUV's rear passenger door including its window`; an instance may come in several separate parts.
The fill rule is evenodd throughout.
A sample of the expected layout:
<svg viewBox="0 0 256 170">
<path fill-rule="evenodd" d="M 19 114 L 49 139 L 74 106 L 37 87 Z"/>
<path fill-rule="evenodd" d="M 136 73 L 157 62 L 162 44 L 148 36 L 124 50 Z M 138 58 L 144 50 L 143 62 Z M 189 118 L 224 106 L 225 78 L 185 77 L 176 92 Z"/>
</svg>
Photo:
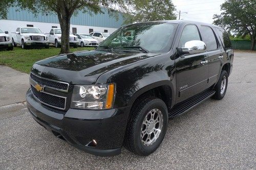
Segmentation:
<svg viewBox="0 0 256 170">
<path fill-rule="evenodd" d="M 214 85 L 219 78 L 221 69 L 221 61 L 223 59 L 222 49 L 214 30 L 209 26 L 201 26 L 200 33 L 204 43 L 206 44 L 208 55 L 208 85 Z"/>
</svg>

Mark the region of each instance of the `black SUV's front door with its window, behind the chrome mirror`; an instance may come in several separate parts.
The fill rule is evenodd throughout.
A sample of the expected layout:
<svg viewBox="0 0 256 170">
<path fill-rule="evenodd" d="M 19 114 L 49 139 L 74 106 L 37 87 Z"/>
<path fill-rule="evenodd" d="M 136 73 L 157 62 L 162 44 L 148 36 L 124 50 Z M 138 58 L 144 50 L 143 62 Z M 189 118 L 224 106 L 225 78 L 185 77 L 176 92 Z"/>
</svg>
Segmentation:
<svg viewBox="0 0 256 170">
<path fill-rule="evenodd" d="M 192 40 L 201 40 L 198 27 L 186 25 L 181 33 L 178 47 L 184 47 L 186 42 Z M 185 54 L 183 57 L 179 57 L 175 61 L 177 73 L 176 103 L 182 102 L 207 88 L 207 52 Z"/>
</svg>

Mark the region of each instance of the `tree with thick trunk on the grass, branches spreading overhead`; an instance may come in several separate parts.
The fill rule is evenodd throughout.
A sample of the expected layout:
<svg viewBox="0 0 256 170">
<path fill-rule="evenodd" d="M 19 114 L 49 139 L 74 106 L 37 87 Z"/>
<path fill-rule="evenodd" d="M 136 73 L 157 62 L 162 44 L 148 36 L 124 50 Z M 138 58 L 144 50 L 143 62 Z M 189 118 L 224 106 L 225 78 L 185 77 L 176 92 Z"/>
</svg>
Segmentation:
<svg viewBox="0 0 256 170">
<path fill-rule="evenodd" d="M 8 0 L 1 0 L 8 2 Z M 60 54 L 69 53 L 70 18 L 79 10 L 84 13 L 103 13 L 101 7 L 108 8 L 108 13 L 117 19 L 117 7 L 126 10 L 130 0 L 9 0 L 9 5 L 17 5 L 21 9 L 28 9 L 35 15 L 41 13 L 57 14 L 61 29 Z M 0 4 L 1 4 L 0 3 Z M 7 8 L 8 9 L 8 6 Z M 1 14 L 1 12 L 3 14 Z M 0 17 L 6 18 L 6 10 L 0 8 Z"/>
</svg>

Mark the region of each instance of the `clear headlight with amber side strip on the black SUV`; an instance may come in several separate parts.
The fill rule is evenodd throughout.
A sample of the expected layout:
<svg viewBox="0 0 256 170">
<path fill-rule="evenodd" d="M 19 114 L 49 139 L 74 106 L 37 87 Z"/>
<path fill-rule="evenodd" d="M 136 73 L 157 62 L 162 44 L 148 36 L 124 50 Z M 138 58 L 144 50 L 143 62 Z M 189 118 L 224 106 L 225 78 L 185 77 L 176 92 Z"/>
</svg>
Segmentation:
<svg viewBox="0 0 256 170">
<path fill-rule="evenodd" d="M 75 85 L 71 108 L 111 109 L 115 97 L 115 84 Z"/>
</svg>

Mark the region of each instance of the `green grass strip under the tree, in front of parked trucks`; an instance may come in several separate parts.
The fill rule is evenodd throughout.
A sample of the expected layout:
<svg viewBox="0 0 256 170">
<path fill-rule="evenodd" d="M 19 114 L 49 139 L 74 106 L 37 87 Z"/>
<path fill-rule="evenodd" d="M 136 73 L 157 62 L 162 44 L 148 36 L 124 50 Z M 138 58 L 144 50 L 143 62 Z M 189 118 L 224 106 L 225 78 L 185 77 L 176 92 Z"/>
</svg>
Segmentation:
<svg viewBox="0 0 256 170">
<path fill-rule="evenodd" d="M 70 52 L 94 50 L 94 47 L 70 48 Z M 21 47 L 14 47 L 13 51 L 0 51 L 0 65 L 6 65 L 13 69 L 29 73 L 31 66 L 39 60 L 56 56 L 60 48 L 50 46 L 49 49 L 23 50 Z"/>
</svg>

